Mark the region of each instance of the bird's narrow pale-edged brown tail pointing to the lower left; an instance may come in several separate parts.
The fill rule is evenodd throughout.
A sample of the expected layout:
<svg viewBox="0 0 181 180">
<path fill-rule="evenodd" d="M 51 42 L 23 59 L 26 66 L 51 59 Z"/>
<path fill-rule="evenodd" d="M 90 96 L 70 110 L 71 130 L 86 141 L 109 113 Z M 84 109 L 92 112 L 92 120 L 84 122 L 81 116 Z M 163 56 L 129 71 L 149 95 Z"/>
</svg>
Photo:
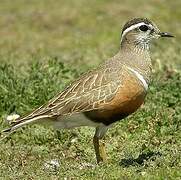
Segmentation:
<svg viewBox="0 0 181 180">
<path fill-rule="evenodd" d="M 27 124 L 32 124 L 35 121 L 40 121 L 43 119 L 50 118 L 48 115 L 42 115 L 42 116 L 36 116 L 32 118 L 20 118 L 17 119 L 15 122 L 12 122 L 10 127 L 8 129 L 4 129 L 3 131 L 0 132 L 0 141 L 4 140 L 8 136 L 10 136 L 13 132 L 15 132 L 17 129 L 27 125 Z"/>
</svg>

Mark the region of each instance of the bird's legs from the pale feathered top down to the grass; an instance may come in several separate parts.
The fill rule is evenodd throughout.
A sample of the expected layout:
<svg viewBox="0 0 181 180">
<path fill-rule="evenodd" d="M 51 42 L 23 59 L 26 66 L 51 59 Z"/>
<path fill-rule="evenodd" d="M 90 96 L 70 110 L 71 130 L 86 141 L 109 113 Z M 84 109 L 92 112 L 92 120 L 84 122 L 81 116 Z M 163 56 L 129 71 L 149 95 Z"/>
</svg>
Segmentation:
<svg viewBox="0 0 181 180">
<path fill-rule="evenodd" d="M 105 132 L 107 131 L 107 127 L 103 131 L 101 131 L 102 130 L 101 128 L 100 127 L 96 128 L 96 133 L 93 139 L 97 163 L 106 162 L 107 160 L 105 142 L 103 138 Z"/>
</svg>

